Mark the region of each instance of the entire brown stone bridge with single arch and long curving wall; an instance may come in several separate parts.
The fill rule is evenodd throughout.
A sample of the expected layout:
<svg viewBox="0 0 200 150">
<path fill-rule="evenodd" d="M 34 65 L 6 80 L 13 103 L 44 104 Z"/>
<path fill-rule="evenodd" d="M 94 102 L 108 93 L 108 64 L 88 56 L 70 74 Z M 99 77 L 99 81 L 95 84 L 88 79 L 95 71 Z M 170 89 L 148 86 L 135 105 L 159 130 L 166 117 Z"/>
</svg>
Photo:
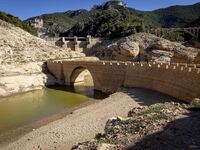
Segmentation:
<svg viewBox="0 0 200 150">
<path fill-rule="evenodd" d="M 168 94 L 186 102 L 200 98 L 199 64 L 48 61 L 47 66 L 57 80 L 65 85 L 72 85 L 73 74 L 82 68 L 91 73 L 94 89 L 103 92 L 116 92 L 121 87 L 140 87 Z"/>
</svg>

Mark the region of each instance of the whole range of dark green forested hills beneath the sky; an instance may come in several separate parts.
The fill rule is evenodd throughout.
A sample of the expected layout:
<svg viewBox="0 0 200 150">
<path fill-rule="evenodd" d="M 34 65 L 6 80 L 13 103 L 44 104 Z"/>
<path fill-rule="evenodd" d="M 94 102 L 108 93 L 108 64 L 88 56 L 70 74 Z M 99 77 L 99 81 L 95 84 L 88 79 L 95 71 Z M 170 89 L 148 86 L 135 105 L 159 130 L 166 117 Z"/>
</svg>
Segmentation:
<svg viewBox="0 0 200 150">
<path fill-rule="evenodd" d="M 44 14 L 42 18 L 48 32 L 59 36 L 123 37 L 152 26 L 184 27 L 200 17 L 200 3 L 172 6 L 154 11 L 129 8 L 120 1 L 95 5 L 90 11 L 80 9 L 61 13 Z M 123 32 L 122 32 L 123 31 Z"/>
</svg>

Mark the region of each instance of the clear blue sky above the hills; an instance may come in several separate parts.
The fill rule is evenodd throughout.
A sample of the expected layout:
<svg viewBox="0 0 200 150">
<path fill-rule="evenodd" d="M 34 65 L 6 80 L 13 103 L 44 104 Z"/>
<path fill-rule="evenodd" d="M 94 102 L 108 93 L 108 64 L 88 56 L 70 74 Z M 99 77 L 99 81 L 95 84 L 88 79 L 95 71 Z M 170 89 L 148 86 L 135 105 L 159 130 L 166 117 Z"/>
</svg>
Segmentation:
<svg viewBox="0 0 200 150">
<path fill-rule="evenodd" d="M 80 8 L 90 9 L 107 0 L 0 0 L 0 11 L 11 13 L 22 20 L 44 13 L 63 12 Z M 188 5 L 200 0 L 124 0 L 129 7 L 154 10 L 172 5 Z"/>
</svg>

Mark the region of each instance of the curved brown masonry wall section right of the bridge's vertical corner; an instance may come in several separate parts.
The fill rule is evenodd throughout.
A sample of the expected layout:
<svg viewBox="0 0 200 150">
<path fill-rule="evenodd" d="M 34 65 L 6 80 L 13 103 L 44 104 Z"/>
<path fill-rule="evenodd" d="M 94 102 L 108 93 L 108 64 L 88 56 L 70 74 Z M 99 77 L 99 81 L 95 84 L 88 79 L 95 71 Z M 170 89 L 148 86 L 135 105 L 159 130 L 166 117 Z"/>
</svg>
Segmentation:
<svg viewBox="0 0 200 150">
<path fill-rule="evenodd" d="M 142 87 L 190 102 L 200 97 L 200 69 L 180 64 L 129 64 L 125 87 Z"/>
</svg>

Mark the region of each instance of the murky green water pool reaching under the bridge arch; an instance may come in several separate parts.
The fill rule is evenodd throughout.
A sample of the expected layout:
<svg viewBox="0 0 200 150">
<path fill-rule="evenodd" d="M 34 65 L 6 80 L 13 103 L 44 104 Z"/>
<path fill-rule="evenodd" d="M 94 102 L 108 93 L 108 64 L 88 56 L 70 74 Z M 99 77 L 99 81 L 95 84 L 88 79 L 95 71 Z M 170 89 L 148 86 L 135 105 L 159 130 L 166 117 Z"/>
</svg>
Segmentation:
<svg viewBox="0 0 200 150">
<path fill-rule="evenodd" d="M 106 95 L 91 87 L 51 87 L 0 99 L 0 133 Z"/>
</svg>

